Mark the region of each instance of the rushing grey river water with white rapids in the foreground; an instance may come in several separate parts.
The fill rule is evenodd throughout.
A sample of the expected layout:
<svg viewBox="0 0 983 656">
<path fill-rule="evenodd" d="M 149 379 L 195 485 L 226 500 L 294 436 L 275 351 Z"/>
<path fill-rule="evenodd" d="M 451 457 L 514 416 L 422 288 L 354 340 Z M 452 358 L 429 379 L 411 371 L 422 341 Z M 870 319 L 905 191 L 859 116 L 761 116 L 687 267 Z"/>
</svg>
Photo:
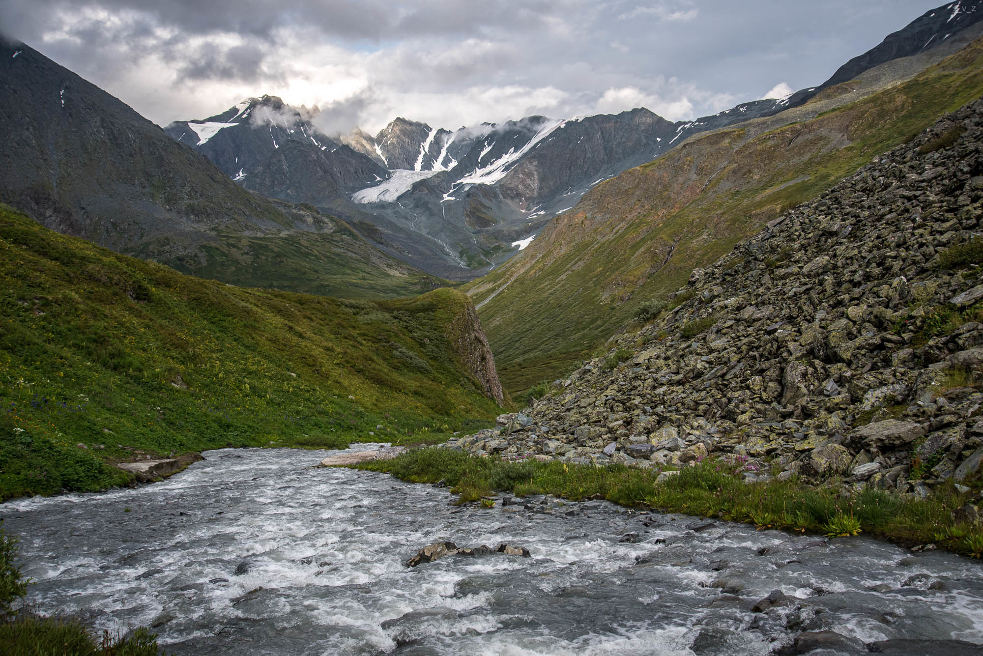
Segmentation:
<svg viewBox="0 0 983 656">
<path fill-rule="evenodd" d="M 8 502 L 29 602 L 151 626 L 177 654 L 764 655 L 807 630 L 983 643 L 983 570 L 951 554 L 604 502 L 457 508 L 311 467 L 328 453 L 212 451 L 163 483 Z M 532 557 L 404 567 L 443 539 Z M 788 598 L 754 612 L 775 589 Z"/>
</svg>

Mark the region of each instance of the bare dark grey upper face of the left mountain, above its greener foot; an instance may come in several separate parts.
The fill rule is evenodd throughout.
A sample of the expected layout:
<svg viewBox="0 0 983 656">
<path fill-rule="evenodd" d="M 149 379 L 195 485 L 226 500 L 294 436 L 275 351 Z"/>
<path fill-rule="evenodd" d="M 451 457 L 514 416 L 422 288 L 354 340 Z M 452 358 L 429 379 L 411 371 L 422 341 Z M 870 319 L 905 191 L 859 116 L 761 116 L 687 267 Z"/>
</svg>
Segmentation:
<svg viewBox="0 0 983 656">
<path fill-rule="evenodd" d="M 0 200 L 116 249 L 285 218 L 129 106 L 22 43 L 0 44 Z"/>
</svg>

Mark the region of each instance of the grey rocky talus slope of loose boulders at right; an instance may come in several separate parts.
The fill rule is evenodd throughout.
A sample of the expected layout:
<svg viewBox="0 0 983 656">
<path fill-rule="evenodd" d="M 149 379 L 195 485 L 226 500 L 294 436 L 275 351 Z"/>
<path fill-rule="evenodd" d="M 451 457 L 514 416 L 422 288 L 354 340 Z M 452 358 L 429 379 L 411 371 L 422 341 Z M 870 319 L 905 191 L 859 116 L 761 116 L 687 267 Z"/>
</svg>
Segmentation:
<svg viewBox="0 0 983 656">
<path fill-rule="evenodd" d="M 842 475 L 926 494 L 983 460 L 983 100 L 739 243 L 475 453 Z M 662 307 L 660 307 L 662 305 Z"/>
</svg>

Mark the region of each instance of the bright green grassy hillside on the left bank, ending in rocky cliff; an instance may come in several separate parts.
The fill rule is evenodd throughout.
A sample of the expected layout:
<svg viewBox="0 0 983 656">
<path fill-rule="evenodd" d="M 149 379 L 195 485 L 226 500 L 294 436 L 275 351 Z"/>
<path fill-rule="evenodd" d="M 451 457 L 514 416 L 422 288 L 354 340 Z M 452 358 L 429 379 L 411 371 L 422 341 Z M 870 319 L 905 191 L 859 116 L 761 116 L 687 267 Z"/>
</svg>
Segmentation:
<svg viewBox="0 0 983 656">
<path fill-rule="evenodd" d="M 453 290 L 338 301 L 240 289 L 2 205 L 0 281 L 0 499 L 125 482 L 105 462 L 135 449 L 396 441 L 497 410 L 447 335 L 468 303 Z"/>
</svg>

